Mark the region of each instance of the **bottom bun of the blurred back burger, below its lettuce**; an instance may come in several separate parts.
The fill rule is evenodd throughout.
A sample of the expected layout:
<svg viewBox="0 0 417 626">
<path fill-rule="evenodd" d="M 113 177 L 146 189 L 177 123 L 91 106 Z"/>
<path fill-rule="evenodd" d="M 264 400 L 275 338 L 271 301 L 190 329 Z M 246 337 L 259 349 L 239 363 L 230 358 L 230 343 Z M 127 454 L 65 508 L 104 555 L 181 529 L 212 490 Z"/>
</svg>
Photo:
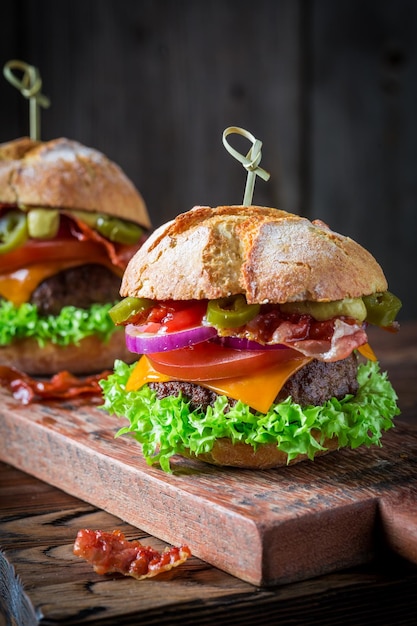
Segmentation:
<svg viewBox="0 0 417 626">
<path fill-rule="evenodd" d="M 113 333 L 104 343 L 96 336 L 82 339 L 78 345 L 39 346 L 35 339 L 21 339 L 0 347 L 0 365 L 14 367 L 30 376 L 52 376 L 68 371 L 75 375 L 96 374 L 112 370 L 115 359 L 133 363 L 137 355 L 126 348 L 124 332 Z"/>
</svg>

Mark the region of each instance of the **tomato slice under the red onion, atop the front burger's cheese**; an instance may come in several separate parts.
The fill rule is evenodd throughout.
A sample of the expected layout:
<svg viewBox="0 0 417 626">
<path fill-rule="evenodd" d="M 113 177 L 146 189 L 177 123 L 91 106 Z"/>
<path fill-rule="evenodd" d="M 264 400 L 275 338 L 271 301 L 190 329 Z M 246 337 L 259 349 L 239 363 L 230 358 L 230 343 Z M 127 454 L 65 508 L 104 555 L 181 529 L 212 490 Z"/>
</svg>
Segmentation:
<svg viewBox="0 0 417 626">
<path fill-rule="evenodd" d="M 158 372 L 181 380 L 199 381 L 233 378 L 253 373 L 288 359 L 288 349 L 234 350 L 213 342 L 195 344 L 170 352 L 148 354 Z M 295 350 L 291 350 L 298 354 Z"/>
</svg>

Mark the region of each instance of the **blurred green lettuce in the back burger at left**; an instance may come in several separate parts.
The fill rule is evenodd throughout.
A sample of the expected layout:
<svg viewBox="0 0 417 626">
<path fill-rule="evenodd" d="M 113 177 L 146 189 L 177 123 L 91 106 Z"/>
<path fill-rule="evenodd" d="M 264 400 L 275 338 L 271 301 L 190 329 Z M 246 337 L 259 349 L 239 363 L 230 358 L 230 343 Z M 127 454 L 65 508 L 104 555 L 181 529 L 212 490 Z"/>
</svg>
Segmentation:
<svg viewBox="0 0 417 626">
<path fill-rule="evenodd" d="M 108 341 L 117 329 L 108 315 L 112 304 L 93 304 L 89 309 L 64 307 L 59 315 L 39 315 L 34 304 L 15 306 L 0 302 L 0 346 L 33 337 L 40 346 L 47 341 L 67 346 L 84 337 L 98 335 Z"/>
</svg>

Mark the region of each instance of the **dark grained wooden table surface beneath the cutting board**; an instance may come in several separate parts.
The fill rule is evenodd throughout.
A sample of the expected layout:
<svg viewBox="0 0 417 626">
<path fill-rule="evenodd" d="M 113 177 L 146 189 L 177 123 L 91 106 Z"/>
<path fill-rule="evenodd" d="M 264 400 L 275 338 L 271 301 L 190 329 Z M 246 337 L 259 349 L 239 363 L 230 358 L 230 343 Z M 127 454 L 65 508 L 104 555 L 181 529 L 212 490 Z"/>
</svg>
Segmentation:
<svg viewBox="0 0 417 626">
<path fill-rule="evenodd" d="M 417 322 L 404 322 L 398 335 L 372 330 L 370 340 L 398 393 L 399 426 L 414 433 Z M 157 549 L 165 546 L 121 519 L 0 463 L 1 625 L 417 623 L 417 564 L 385 547 L 382 532 L 381 550 L 369 563 L 262 588 L 194 556 L 149 580 L 99 576 L 72 554 L 83 527 L 117 528 Z"/>
</svg>

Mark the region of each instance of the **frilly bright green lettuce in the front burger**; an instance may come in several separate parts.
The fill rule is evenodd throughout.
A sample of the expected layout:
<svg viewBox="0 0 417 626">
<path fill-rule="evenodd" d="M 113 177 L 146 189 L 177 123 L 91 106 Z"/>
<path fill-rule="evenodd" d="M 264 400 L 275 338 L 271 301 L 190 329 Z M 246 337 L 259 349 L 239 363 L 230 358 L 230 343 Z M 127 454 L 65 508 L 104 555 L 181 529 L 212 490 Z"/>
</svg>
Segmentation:
<svg viewBox="0 0 417 626">
<path fill-rule="evenodd" d="M 225 412 L 224 396 L 219 396 L 203 414 L 191 411 L 181 395 L 158 400 L 148 385 L 126 392 L 133 367 L 115 362 L 114 373 L 100 382 L 102 408 L 125 417 L 129 425 L 116 436 L 129 433 L 142 445 L 147 463 L 159 462 L 166 472 L 171 471 L 169 459 L 173 454 L 209 452 L 220 437 L 251 444 L 255 449 L 260 444 L 276 443 L 287 453 L 288 461 L 298 454 L 313 459 L 318 450 L 324 449 L 324 440 L 334 436 L 340 447 L 381 445 L 383 431 L 393 427 L 393 418 L 400 413 L 386 373 L 381 373 L 378 363 L 372 361 L 359 365 L 360 388 L 356 396 L 332 398 L 323 406 L 303 408 L 287 398 L 273 405 L 267 414 L 252 413 L 243 402 Z M 317 430 L 321 433 L 319 441 L 312 434 Z"/>
</svg>

